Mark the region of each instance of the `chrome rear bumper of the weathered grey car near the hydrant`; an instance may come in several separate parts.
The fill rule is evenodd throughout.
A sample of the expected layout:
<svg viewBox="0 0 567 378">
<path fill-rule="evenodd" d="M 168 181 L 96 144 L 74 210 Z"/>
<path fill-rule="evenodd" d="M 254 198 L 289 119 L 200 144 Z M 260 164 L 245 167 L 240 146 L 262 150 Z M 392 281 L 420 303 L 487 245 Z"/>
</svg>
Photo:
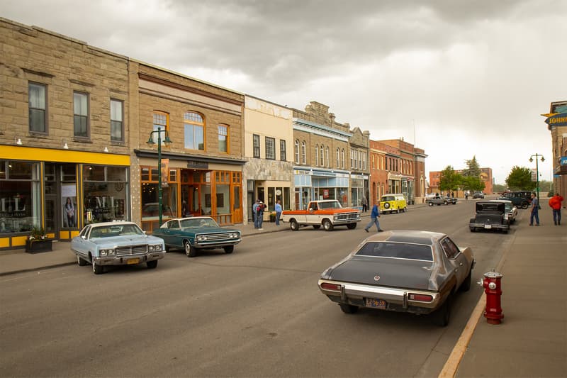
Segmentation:
<svg viewBox="0 0 567 378">
<path fill-rule="evenodd" d="M 322 289 L 322 283 L 339 284 L 341 291 Z M 364 284 L 337 282 L 329 279 L 319 279 L 319 289 L 331 301 L 364 307 L 365 298 L 382 299 L 386 301 L 386 311 L 398 311 L 426 314 L 435 311 L 442 304 L 442 296 L 436 291 L 395 289 Z M 429 302 L 415 301 L 408 294 L 424 294 L 432 296 Z"/>
</svg>

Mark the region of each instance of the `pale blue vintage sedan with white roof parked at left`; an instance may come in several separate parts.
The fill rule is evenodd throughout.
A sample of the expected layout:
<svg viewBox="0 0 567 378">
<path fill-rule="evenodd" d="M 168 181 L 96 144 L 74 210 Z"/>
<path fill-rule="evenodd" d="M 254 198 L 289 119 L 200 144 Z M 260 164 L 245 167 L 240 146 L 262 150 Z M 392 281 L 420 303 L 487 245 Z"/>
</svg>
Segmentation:
<svg viewBox="0 0 567 378">
<path fill-rule="evenodd" d="M 146 235 L 133 222 L 104 222 L 84 226 L 71 240 L 71 250 L 81 266 L 91 264 L 94 274 L 104 272 L 106 265 L 133 265 L 145 262 L 148 269 L 157 267 L 165 255 L 164 240 Z"/>
</svg>

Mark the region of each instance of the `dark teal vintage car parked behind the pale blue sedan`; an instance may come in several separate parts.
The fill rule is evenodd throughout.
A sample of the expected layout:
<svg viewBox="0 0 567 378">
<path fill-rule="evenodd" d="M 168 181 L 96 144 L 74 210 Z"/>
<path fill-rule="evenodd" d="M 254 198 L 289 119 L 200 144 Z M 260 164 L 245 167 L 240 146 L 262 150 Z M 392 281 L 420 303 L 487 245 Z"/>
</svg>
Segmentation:
<svg viewBox="0 0 567 378">
<path fill-rule="evenodd" d="M 239 230 L 220 227 L 210 216 L 171 219 L 154 230 L 153 235 L 164 240 L 167 251 L 182 249 L 187 257 L 195 257 L 200 250 L 218 248 L 232 253 L 242 240 Z"/>
</svg>

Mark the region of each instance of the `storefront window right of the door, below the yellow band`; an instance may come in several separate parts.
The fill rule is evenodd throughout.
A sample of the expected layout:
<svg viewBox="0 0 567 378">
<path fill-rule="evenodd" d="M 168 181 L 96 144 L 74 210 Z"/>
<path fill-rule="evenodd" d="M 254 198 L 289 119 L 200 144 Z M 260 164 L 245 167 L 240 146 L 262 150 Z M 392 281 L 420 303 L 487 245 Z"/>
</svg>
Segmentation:
<svg viewBox="0 0 567 378">
<path fill-rule="evenodd" d="M 84 165 L 83 177 L 85 224 L 129 218 L 128 168 Z"/>
</svg>

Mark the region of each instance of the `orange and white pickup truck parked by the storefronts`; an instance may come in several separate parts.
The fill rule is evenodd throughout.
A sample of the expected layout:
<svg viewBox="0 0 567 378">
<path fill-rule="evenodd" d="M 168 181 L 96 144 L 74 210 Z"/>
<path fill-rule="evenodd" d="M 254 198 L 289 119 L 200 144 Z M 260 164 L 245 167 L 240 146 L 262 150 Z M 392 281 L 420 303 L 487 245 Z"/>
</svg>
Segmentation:
<svg viewBox="0 0 567 378">
<path fill-rule="evenodd" d="M 313 226 L 315 230 L 323 226 L 325 231 L 330 231 L 335 226 L 347 226 L 352 230 L 360 222 L 360 211 L 342 207 L 336 199 L 325 199 L 311 201 L 307 210 L 282 211 L 280 221 L 289 222 L 293 231 L 299 230 L 301 226 Z"/>
</svg>

